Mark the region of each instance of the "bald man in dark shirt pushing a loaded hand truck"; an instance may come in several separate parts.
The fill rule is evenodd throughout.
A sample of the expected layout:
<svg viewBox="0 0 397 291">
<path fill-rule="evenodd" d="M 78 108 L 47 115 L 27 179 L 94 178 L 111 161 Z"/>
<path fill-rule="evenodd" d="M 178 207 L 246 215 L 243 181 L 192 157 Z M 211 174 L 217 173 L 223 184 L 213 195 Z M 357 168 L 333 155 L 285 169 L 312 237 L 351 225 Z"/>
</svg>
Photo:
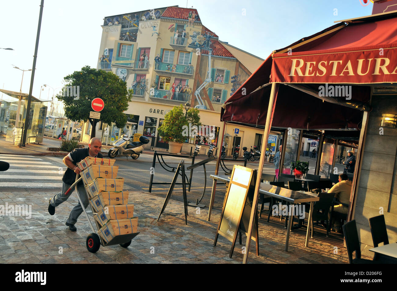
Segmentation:
<svg viewBox="0 0 397 291">
<path fill-rule="evenodd" d="M 76 179 L 76 174 L 78 175 L 81 171 L 80 169 L 76 166 L 78 162 L 83 160 L 84 158 L 87 158 L 87 156 L 93 157 L 93 158 L 103 158 L 102 154 L 100 154 L 100 150 L 102 148 L 102 142 L 100 139 L 97 137 L 94 137 L 91 139 L 88 148 L 75 148 L 72 152 L 69 152 L 67 156 L 63 159 L 64 164 L 67 166 L 67 169 L 64 173 L 64 177 L 62 178 L 63 184 L 62 184 L 62 191 L 52 197 L 50 201 L 48 202 L 48 213 L 51 215 L 55 214 L 55 207 L 61 204 L 62 202 L 66 201 L 67 198 L 70 197 L 71 193 L 74 191 L 71 189 L 71 192 L 65 195 L 65 192 L 67 189 L 70 188 L 70 186 L 75 182 Z M 85 188 L 83 185 L 83 181 L 80 181 L 77 184 L 77 192 L 80 196 L 81 201 L 84 204 L 84 208 L 87 208 L 88 206 L 88 199 L 87 195 L 85 193 Z M 77 228 L 75 227 L 75 223 L 77 222 L 77 218 L 79 215 L 83 212 L 83 208 L 80 205 L 80 202 L 78 205 L 76 205 L 72 211 L 69 214 L 69 218 L 66 220 L 66 225 L 69 227 L 71 231 L 76 231 Z"/>
</svg>

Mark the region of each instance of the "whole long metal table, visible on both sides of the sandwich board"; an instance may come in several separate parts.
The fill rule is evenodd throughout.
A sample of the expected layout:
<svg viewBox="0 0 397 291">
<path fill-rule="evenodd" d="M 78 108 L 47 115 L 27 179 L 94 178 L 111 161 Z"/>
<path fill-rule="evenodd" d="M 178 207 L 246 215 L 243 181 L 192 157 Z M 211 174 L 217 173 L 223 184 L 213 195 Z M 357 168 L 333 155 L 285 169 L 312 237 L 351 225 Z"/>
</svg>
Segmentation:
<svg viewBox="0 0 397 291">
<path fill-rule="evenodd" d="M 214 179 L 214 182 L 212 183 L 212 192 L 211 192 L 211 202 L 210 202 L 210 208 L 208 210 L 208 221 L 211 218 L 211 211 L 212 211 L 212 206 L 214 204 L 214 199 L 215 199 L 215 187 L 217 181 L 221 183 L 228 184 L 230 182 L 230 176 L 226 175 L 210 175 L 210 178 Z M 290 202 L 292 205 L 296 203 L 302 203 L 302 202 L 310 202 L 310 211 L 309 211 L 309 220 L 307 225 L 310 225 L 311 220 L 312 220 L 312 212 L 313 212 L 313 205 L 315 201 L 320 200 L 317 195 L 314 195 L 312 193 L 301 193 L 299 191 L 291 191 L 289 189 L 285 188 L 280 188 L 276 187 L 273 185 L 270 185 L 268 182 L 260 183 L 260 189 L 259 193 L 262 193 L 264 195 L 270 196 L 270 197 L 275 197 L 278 198 L 279 200 L 284 200 L 287 202 Z M 291 210 L 294 208 L 291 207 Z M 292 225 L 292 220 L 293 220 L 293 211 L 289 212 L 289 220 L 288 220 L 288 226 L 287 226 L 287 238 L 285 241 L 285 251 L 288 251 L 288 241 L 289 241 L 289 232 L 291 231 L 291 225 Z M 306 231 L 306 241 L 305 241 L 305 246 L 308 246 L 309 243 L 309 232 L 310 232 L 310 227 L 307 227 Z"/>
</svg>

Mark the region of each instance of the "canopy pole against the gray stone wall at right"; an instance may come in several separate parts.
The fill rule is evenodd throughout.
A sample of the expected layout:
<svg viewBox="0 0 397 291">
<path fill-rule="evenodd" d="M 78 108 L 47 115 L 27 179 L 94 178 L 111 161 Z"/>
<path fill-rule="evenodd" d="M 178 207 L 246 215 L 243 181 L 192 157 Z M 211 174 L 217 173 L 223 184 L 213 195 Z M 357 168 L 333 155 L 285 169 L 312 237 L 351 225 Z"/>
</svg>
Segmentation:
<svg viewBox="0 0 397 291">
<path fill-rule="evenodd" d="M 356 165 L 353 173 L 353 184 L 351 187 L 351 195 L 350 195 L 350 203 L 349 203 L 349 212 L 347 213 L 347 222 L 351 221 L 354 217 L 355 206 L 356 206 L 356 198 L 358 191 L 358 182 L 360 181 L 360 168 L 362 164 L 362 158 L 364 156 L 364 145 L 366 139 L 366 131 L 368 126 L 368 115 L 369 112 L 364 111 L 362 116 L 362 126 L 360 129 L 360 139 L 358 141 L 358 149 L 356 156 Z"/>
</svg>

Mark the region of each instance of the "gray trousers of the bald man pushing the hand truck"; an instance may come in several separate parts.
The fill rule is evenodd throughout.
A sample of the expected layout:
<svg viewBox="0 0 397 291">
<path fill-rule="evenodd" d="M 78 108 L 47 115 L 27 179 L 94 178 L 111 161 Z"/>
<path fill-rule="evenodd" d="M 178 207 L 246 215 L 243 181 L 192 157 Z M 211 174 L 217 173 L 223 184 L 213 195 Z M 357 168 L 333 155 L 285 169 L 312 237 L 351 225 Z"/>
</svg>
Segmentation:
<svg viewBox="0 0 397 291">
<path fill-rule="evenodd" d="M 74 192 L 74 187 L 73 189 L 71 189 L 71 191 L 68 193 L 67 196 L 65 196 L 65 192 L 67 191 L 67 189 L 70 188 L 71 185 L 66 184 L 65 182 L 62 182 L 62 191 L 60 193 L 58 193 L 57 195 L 55 195 L 53 198 L 51 198 L 50 200 L 50 204 L 52 206 L 58 206 L 59 204 L 61 204 L 62 202 L 66 201 L 67 198 L 70 197 L 70 195 Z M 88 206 L 88 198 L 87 198 L 87 194 L 85 192 L 85 188 L 83 185 L 77 185 L 77 193 L 81 199 L 81 201 L 84 204 L 84 208 L 87 208 Z M 80 216 L 80 214 L 83 212 L 83 208 L 79 204 L 77 204 L 75 207 L 73 207 L 72 211 L 69 214 L 69 217 L 67 218 L 66 222 L 68 224 L 75 224 L 77 222 L 77 218 Z"/>
</svg>

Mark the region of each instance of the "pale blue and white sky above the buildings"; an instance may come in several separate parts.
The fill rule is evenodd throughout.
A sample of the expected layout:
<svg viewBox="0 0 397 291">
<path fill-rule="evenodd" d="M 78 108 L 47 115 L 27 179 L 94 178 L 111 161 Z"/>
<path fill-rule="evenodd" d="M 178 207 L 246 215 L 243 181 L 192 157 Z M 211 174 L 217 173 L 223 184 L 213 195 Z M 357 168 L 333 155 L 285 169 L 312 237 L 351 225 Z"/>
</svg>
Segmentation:
<svg viewBox="0 0 397 291">
<path fill-rule="evenodd" d="M 370 15 L 373 6 L 363 0 L 44 0 L 33 96 L 50 100 L 65 76 L 87 65 L 96 68 L 104 17 L 175 5 L 193 6 L 221 41 L 262 59 L 334 21 Z M 0 48 L 14 50 L 0 49 L 1 88 L 19 92 L 22 71 L 13 67 L 32 69 L 39 12 L 40 0 L 2 0 L 0 16 L 7 21 Z M 29 93 L 30 79 L 26 71 L 23 93 Z"/>
</svg>

